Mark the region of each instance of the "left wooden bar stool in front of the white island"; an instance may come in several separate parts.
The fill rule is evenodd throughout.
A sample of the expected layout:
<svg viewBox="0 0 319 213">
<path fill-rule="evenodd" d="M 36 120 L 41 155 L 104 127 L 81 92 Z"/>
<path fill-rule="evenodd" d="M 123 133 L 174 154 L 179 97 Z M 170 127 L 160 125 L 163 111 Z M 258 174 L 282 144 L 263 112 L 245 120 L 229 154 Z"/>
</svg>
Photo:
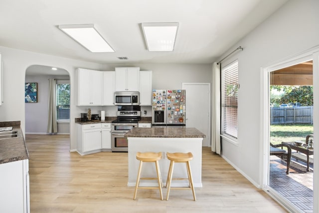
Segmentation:
<svg viewBox="0 0 319 213">
<path fill-rule="evenodd" d="M 135 192 L 134 192 L 134 200 L 136 199 L 136 195 L 138 192 L 138 189 L 159 189 L 160 190 L 160 200 L 163 200 L 163 194 L 161 188 L 163 187 L 161 176 L 160 176 L 160 166 L 159 166 L 159 160 L 161 159 L 161 152 L 155 153 L 155 152 L 137 152 L 136 153 L 136 159 L 140 160 L 140 167 L 138 171 L 138 177 L 136 180 L 136 186 L 135 186 Z M 156 172 L 157 172 L 157 178 L 141 178 L 141 172 L 142 172 L 142 165 L 143 162 L 154 162 L 156 166 Z M 140 180 L 158 180 L 159 187 L 140 187 Z"/>
</svg>

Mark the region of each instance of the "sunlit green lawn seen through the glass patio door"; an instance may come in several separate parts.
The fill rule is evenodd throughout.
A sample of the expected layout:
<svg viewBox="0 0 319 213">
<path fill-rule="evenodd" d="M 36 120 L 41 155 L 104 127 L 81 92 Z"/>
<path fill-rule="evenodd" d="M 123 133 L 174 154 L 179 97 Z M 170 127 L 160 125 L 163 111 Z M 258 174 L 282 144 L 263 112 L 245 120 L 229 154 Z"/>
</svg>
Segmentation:
<svg viewBox="0 0 319 213">
<path fill-rule="evenodd" d="M 303 141 L 306 136 L 314 133 L 312 124 L 276 124 L 270 125 L 270 142 L 281 144 L 281 142 Z"/>
</svg>

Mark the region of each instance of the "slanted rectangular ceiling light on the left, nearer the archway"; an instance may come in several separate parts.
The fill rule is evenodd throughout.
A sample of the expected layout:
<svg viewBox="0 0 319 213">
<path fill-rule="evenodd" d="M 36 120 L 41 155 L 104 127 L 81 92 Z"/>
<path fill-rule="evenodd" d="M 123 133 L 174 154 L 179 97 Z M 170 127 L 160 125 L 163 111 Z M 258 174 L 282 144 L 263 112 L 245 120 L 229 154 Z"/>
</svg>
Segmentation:
<svg viewBox="0 0 319 213">
<path fill-rule="evenodd" d="M 94 24 L 59 25 L 59 28 L 91 52 L 114 52 Z"/>
</svg>

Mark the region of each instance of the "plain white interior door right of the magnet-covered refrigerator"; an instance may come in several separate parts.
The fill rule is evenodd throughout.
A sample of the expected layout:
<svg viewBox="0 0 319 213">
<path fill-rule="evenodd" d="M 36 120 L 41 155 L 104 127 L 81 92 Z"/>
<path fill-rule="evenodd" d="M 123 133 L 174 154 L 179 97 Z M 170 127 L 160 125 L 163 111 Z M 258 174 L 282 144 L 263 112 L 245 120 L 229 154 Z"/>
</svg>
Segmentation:
<svg viewBox="0 0 319 213">
<path fill-rule="evenodd" d="M 206 135 L 203 147 L 210 146 L 210 83 L 182 83 L 186 90 L 186 127 Z"/>
</svg>

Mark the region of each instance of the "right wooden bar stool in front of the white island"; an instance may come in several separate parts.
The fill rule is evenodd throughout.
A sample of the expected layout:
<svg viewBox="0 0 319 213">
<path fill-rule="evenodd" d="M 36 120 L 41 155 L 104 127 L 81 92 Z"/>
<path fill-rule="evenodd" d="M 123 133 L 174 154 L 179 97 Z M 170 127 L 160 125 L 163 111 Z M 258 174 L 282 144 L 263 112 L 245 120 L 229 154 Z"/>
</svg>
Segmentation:
<svg viewBox="0 0 319 213">
<path fill-rule="evenodd" d="M 167 187 L 167 185 L 168 185 L 166 201 L 168 201 L 171 180 L 188 180 L 189 187 L 172 187 L 172 189 L 192 190 L 194 201 L 196 201 L 193 178 L 191 176 L 190 164 L 189 164 L 189 161 L 193 159 L 193 154 L 191 152 L 189 152 L 189 153 L 167 153 L 166 155 L 167 155 L 167 159 L 170 160 L 168 175 L 167 175 L 167 180 L 166 180 L 166 186 L 165 186 L 165 187 Z M 186 163 L 188 178 L 172 178 L 174 163 Z"/>
</svg>

